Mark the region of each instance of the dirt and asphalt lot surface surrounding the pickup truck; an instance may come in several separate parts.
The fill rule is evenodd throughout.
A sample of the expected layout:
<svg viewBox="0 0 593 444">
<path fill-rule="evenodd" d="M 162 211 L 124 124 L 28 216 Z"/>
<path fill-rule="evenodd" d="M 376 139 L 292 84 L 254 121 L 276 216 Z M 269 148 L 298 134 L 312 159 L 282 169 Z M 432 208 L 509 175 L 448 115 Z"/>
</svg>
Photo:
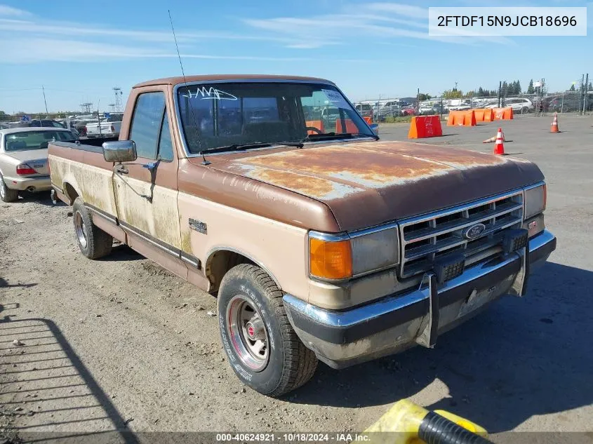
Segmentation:
<svg viewBox="0 0 593 444">
<path fill-rule="evenodd" d="M 500 300 L 433 350 L 341 371 L 320 364 L 279 400 L 228 369 L 214 297 L 124 245 L 86 260 L 69 208 L 48 194 L 0 203 L 0 431 L 361 431 L 411 398 L 498 442 L 507 431 L 588 431 L 581 442 L 593 442 L 592 123 L 561 120 L 561 134 L 547 118 L 503 125 L 507 152 L 547 177 L 546 222 L 558 237 L 525 298 Z M 445 128 L 424 142 L 489 151 L 481 141 L 496 127 Z M 406 133 L 394 125 L 380 135 Z"/>
</svg>

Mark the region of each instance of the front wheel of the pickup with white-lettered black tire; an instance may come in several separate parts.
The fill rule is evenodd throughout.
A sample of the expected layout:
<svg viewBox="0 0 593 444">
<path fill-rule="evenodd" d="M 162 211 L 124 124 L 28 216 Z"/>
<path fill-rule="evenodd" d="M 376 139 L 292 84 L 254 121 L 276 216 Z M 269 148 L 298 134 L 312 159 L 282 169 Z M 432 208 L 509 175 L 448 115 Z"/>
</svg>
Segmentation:
<svg viewBox="0 0 593 444">
<path fill-rule="evenodd" d="M 229 364 L 244 384 L 273 397 L 309 381 L 318 362 L 288 321 L 282 295 L 272 278 L 252 264 L 230 269 L 218 291 L 220 339 Z M 258 345 L 262 350 L 262 344 L 263 352 L 253 351 Z"/>
</svg>

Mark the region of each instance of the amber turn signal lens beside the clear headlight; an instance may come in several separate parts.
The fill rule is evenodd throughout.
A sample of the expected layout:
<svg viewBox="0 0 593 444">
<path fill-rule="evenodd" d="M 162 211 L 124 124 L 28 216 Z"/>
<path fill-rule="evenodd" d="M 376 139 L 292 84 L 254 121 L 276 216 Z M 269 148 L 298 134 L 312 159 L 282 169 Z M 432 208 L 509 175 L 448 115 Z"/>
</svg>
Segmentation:
<svg viewBox="0 0 593 444">
<path fill-rule="evenodd" d="M 310 271 L 324 279 L 344 279 L 352 276 L 350 241 L 328 242 L 309 238 Z"/>
</svg>

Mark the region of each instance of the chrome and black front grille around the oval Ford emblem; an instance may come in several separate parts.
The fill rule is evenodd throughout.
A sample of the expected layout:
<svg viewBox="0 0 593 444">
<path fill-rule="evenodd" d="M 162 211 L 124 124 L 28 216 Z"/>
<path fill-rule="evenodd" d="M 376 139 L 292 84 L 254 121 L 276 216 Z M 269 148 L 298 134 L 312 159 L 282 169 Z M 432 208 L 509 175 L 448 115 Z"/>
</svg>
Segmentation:
<svg viewBox="0 0 593 444">
<path fill-rule="evenodd" d="M 505 229 L 520 228 L 522 221 L 522 190 L 402 220 L 401 278 L 432 269 L 435 260 L 451 253 L 463 253 L 466 262 L 494 255 Z M 475 224 L 484 224 L 484 231 L 466 238 L 464 230 Z"/>
</svg>

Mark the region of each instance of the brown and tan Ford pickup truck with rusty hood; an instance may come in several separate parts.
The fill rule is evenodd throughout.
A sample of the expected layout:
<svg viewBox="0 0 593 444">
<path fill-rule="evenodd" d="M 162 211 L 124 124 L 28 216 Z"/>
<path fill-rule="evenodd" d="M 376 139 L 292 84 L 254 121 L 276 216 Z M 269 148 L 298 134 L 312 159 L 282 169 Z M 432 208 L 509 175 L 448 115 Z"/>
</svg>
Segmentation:
<svg viewBox="0 0 593 444">
<path fill-rule="evenodd" d="M 332 128 L 307 121 L 319 103 Z M 118 141 L 51 142 L 49 163 L 81 253 L 116 238 L 216 295 L 228 363 L 268 396 L 318 360 L 434 347 L 556 248 L 533 163 L 381 141 L 324 79 L 140 83 Z"/>
</svg>

